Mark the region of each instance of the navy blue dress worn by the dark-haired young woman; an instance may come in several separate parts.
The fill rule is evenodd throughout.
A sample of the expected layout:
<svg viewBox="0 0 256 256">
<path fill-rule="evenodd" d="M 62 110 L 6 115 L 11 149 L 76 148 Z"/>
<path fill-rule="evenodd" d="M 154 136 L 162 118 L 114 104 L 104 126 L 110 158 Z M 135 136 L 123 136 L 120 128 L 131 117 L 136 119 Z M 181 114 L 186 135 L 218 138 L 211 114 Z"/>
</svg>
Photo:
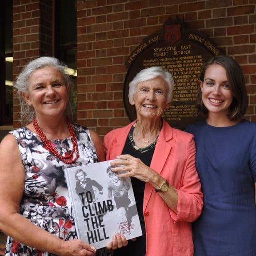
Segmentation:
<svg viewBox="0 0 256 256">
<path fill-rule="evenodd" d="M 189 125 L 204 208 L 193 223 L 194 256 L 256 256 L 256 124 Z"/>
</svg>

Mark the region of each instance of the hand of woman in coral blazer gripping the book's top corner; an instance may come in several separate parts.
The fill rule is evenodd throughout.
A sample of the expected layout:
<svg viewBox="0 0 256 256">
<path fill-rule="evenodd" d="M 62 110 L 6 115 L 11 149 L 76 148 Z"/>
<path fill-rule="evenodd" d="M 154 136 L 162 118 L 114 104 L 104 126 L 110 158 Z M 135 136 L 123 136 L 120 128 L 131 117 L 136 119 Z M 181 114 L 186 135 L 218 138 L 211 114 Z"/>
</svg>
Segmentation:
<svg viewBox="0 0 256 256">
<path fill-rule="evenodd" d="M 141 181 L 151 180 L 152 176 L 156 174 L 154 170 L 149 168 L 140 159 L 131 155 L 120 155 L 117 156 L 118 160 L 111 162 L 112 171 L 120 172 L 118 176 L 121 178 L 135 177 Z M 124 173 L 122 173 L 124 172 Z"/>
</svg>

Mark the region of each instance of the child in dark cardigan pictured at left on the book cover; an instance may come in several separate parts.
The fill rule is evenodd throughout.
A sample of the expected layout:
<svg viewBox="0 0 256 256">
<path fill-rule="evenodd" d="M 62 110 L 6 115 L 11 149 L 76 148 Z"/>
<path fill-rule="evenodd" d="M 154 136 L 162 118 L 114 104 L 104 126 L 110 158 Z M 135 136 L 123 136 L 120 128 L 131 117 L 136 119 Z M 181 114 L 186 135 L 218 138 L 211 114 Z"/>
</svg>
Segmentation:
<svg viewBox="0 0 256 256">
<path fill-rule="evenodd" d="M 76 170 L 75 178 L 76 178 L 76 194 L 81 198 L 80 193 L 86 193 L 90 192 L 90 197 L 92 197 L 92 201 L 95 202 L 95 192 L 93 187 L 97 188 L 100 195 L 103 194 L 102 192 L 102 186 L 96 181 L 92 180 L 90 178 L 87 178 L 87 173 L 84 172 L 82 169 Z M 84 196 L 84 199 L 86 200 L 86 196 Z M 82 199 L 81 199 L 82 200 Z"/>
</svg>

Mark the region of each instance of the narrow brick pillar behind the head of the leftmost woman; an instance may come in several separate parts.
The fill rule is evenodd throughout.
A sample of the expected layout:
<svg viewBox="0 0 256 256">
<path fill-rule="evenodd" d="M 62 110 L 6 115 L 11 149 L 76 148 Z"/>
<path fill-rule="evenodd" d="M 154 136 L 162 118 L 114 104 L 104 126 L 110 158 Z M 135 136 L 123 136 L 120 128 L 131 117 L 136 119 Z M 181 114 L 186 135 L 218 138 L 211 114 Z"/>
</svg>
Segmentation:
<svg viewBox="0 0 256 256">
<path fill-rule="evenodd" d="M 13 0 L 13 80 L 24 64 L 52 56 L 52 0 Z M 13 97 L 13 126 L 19 127 L 19 101 Z"/>
</svg>

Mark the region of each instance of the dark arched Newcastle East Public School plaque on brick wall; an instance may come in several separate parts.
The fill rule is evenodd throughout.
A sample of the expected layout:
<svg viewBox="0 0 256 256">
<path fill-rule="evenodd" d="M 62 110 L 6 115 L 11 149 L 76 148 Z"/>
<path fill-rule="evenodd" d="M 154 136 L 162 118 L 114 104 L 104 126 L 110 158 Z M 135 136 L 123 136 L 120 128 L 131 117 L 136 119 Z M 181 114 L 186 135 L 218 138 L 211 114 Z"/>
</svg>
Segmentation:
<svg viewBox="0 0 256 256">
<path fill-rule="evenodd" d="M 135 107 L 128 100 L 129 83 L 141 69 L 160 66 L 175 81 L 171 107 L 164 111 L 164 119 L 180 129 L 200 120 L 195 107 L 200 72 L 210 57 L 219 54 L 220 49 L 204 35 L 186 28 L 178 18 L 174 22 L 168 19 L 163 29 L 146 37 L 126 62 L 124 106 L 129 119 L 136 119 Z"/>
</svg>

